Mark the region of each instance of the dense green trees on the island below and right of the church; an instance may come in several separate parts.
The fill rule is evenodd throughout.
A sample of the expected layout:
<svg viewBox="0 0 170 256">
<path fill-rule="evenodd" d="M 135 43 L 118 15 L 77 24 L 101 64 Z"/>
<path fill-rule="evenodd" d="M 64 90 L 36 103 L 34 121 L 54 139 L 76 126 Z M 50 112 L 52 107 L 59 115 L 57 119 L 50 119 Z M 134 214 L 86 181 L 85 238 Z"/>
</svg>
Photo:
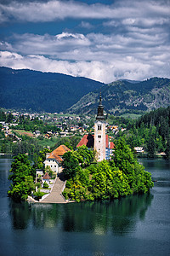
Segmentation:
<svg viewBox="0 0 170 256">
<path fill-rule="evenodd" d="M 70 177 L 63 192 L 66 199 L 110 200 L 134 193 L 146 193 L 153 186 L 150 173 L 144 171 L 123 137 L 116 141 L 114 157 L 110 161 L 103 160 L 98 164 L 90 164 L 91 161 L 88 161 L 86 168 L 83 168 L 75 152 L 67 155 L 72 160 L 67 157 L 64 159 L 64 172 Z M 74 167 L 72 173 L 71 164 Z"/>
</svg>

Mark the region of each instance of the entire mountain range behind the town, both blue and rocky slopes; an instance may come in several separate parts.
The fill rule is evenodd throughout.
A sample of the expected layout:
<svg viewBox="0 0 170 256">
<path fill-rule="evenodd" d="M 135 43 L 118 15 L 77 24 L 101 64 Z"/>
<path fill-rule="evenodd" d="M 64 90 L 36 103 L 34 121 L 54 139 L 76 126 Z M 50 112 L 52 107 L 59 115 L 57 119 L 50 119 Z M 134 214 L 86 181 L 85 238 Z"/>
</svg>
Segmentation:
<svg viewBox="0 0 170 256">
<path fill-rule="evenodd" d="M 2 108 L 96 113 L 100 90 L 106 113 L 144 112 L 170 105 L 170 79 L 124 79 L 102 84 L 61 73 L 0 67 Z"/>
</svg>

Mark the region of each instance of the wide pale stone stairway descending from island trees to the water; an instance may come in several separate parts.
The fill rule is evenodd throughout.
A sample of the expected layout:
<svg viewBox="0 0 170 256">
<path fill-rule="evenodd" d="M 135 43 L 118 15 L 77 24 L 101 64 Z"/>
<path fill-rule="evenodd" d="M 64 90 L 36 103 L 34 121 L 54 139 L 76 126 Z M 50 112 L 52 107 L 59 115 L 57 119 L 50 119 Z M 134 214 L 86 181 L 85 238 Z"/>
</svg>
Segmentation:
<svg viewBox="0 0 170 256">
<path fill-rule="evenodd" d="M 65 185 L 65 178 L 63 173 L 59 173 L 59 176 L 56 178 L 54 187 L 51 191 L 51 193 L 44 198 L 41 203 L 54 203 L 54 204 L 59 204 L 59 203 L 66 203 L 64 197 L 60 195 L 61 190 L 63 189 Z"/>
</svg>

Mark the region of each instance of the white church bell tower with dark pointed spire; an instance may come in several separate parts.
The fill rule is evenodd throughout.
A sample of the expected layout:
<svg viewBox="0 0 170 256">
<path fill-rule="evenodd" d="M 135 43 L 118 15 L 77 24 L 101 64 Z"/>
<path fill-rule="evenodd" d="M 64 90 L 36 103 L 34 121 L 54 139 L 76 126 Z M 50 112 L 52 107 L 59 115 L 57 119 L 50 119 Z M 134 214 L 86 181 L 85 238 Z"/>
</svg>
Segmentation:
<svg viewBox="0 0 170 256">
<path fill-rule="evenodd" d="M 105 159 L 105 116 L 104 106 L 101 102 L 101 92 L 99 96 L 99 106 L 96 121 L 94 122 L 94 150 L 97 151 L 97 160 Z"/>
</svg>

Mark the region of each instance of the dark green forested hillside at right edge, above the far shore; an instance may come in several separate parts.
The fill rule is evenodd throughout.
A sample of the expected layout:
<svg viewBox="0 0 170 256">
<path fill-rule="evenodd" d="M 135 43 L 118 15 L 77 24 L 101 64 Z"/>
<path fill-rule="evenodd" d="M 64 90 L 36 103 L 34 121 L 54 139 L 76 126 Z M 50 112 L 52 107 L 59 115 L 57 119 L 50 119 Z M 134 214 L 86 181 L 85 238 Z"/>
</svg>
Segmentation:
<svg viewBox="0 0 170 256">
<path fill-rule="evenodd" d="M 170 106 L 146 113 L 126 131 L 127 143 L 144 147 L 149 157 L 165 152 L 170 158 Z"/>
</svg>

